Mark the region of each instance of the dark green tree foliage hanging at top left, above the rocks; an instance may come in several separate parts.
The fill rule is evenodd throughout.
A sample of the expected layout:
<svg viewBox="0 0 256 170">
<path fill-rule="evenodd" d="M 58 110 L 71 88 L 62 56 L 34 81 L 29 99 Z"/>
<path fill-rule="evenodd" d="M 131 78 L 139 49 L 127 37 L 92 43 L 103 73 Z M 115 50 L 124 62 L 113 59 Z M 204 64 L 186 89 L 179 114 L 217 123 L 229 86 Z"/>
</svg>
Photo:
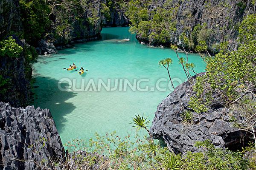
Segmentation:
<svg viewBox="0 0 256 170">
<path fill-rule="evenodd" d="M 50 9 L 44 0 L 19 0 L 19 4 L 24 38 L 29 44 L 35 44 L 50 26 Z"/>
</svg>

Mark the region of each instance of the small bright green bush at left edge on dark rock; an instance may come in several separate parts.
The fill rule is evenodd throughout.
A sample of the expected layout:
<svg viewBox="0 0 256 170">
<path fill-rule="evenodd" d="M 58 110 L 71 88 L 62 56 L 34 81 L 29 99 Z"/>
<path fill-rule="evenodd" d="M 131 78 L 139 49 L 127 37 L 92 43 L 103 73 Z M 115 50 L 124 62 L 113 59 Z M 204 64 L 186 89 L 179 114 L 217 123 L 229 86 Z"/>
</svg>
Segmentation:
<svg viewBox="0 0 256 170">
<path fill-rule="evenodd" d="M 23 48 L 18 45 L 12 36 L 8 37 L 6 40 L 0 41 L 0 56 L 8 57 L 19 57 Z"/>
</svg>

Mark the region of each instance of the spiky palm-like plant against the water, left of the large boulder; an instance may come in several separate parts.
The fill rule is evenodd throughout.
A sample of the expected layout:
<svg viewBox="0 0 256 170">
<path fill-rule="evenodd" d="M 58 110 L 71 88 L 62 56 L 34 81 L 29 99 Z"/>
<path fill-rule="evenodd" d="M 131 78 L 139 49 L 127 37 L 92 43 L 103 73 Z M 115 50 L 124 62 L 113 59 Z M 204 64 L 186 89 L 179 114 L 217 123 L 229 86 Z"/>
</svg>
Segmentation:
<svg viewBox="0 0 256 170">
<path fill-rule="evenodd" d="M 148 116 L 147 117 L 144 117 L 144 116 L 140 116 L 139 114 L 138 115 L 135 115 L 135 117 L 132 119 L 132 124 L 134 124 L 133 127 L 137 127 L 137 130 L 140 130 L 140 129 L 145 129 L 147 130 L 148 132 L 148 135 L 150 136 L 151 138 L 151 142 L 154 142 L 154 139 L 153 137 L 151 136 L 149 130 L 148 130 L 148 123 L 150 122 L 149 120 L 147 120 Z"/>
</svg>

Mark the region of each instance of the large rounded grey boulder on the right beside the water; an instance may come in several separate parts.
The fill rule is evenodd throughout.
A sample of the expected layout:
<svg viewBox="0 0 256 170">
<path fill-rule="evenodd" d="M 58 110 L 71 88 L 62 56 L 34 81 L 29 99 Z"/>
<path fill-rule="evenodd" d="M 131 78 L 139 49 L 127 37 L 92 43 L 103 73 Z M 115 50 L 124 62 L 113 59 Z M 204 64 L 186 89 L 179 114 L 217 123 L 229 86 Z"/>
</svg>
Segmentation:
<svg viewBox="0 0 256 170">
<path fill-rule="evenodd" d="M 190 96 L 194 95 L 192 84 L 184 82 L 176 88 L 176 92 L 184 108 L 193 113 L 192 123 L 183 122 L 183 110 L 174 92 L 169 94 L 157 107 L 150 129 L 155 139 L 163 140 L 175 153 L 198 151 L 195 142 L 209 139 L 216 147 L 239 148 L 249 134 L 234 126 L 230 114 L 232 110 L 224 108 L 217 96 L 212 96 L 212 108 L 206 113 L 195 113 L 189 108 Z M 237 120 L 241 118 L 236 116 Z"/>
</svg>

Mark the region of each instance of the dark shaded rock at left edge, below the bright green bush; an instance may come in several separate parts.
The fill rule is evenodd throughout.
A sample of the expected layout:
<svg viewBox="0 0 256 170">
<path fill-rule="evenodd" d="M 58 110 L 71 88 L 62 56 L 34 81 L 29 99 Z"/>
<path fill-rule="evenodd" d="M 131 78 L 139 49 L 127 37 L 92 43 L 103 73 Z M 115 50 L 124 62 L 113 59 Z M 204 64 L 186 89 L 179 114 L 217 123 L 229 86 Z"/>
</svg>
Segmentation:
<svg viewBox="0 0 256 170">
<path fill-rule="evenodd" d="M 26 42 L 20 41 L 17 37 L 14 38 L 17 44 L 24 48 Z M 0 75 L 3 78 L 1 83 L 7 82 L 2 87 L 5 89 L 0 91 L 0 100 L 9 102 L 15 107 L 27 105 L 30 99 L 32 68 L 25 59 L 25 51 L 18 58 L 0 56 Z"/>
</svg>

